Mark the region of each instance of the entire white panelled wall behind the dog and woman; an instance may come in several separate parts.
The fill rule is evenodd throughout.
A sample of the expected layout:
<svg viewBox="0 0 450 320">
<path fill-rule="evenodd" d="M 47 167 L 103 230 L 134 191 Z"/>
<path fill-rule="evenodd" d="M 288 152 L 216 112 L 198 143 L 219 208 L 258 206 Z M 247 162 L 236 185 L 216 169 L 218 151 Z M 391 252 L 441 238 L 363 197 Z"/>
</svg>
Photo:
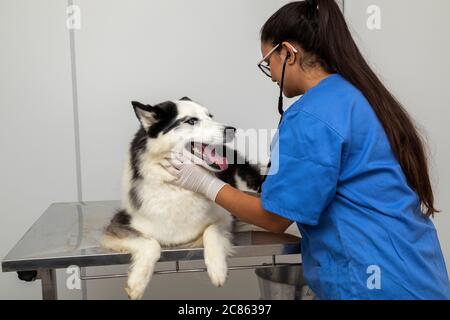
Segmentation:
<svg viewBox="0 0 450 320">
<path fill-rule="evenodd" d="M 118 199 L 128 142 L 137 128 L 131 100 L 185 95 L 241 128 L 275 128 L 277 87 L 256 68 L 259 29 L 282 4 L 259 0 L 78 0 L 76 83 L 66 1 L 0 0 L 0 259 L 52 202 Z M 382 8 L 382 30 L 365 10 Z M 434 156 L 435 220 L 447 263 L 450 80 L 447 0 L 347 0 L 355 36 L 386 83 L 425 128 Z M 74 106 L 72 85 L 78 104 Z M 75 152 L 74 108 L 80 120 Z M 255 116 L 257 114 L 257 116 Z M 76 159 L 81 160 L 77 182 Z M 247 263 L 258 260 L 246 261 Z M 233 263 L 238 263 L 234 261 Z M 160 269 L 167 268 L 164 264 Z M 91 268 L 89 274 L 125 267 Z M 62 298 L 80 298 L 64 288 Z M 124 280 L 89 282 L 88 298 L 125 298 Z M 0 273 L 0 299 L 40 298 L 40 283 Z M 192 288 L 195 288 L 193 290 Z M 233 271 L 224 288 L 206 274 L 155 276 L 146 298 L 257 299 L 252 271 Z"/>
</svg>

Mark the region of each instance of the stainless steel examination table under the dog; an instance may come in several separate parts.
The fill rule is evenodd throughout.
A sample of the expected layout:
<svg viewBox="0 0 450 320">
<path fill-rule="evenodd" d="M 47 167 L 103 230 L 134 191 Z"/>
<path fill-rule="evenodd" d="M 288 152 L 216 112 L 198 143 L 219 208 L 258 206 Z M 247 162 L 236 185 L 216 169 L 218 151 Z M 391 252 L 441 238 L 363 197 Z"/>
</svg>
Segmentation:
<svg viewBox="0 0 450 320">
<path fill-rule="evenodd" d="M 2 271 L 17 272 L 24 281 L 40 279 L 43 299 L 57 299 L 56 269 L 128 264 L 129 254 L 108 251 L 99 246 L 103 228 L 118 208 L 119 201 L 52 204 L 4 258 Z M 249 225 L 241 223 L 233 231 L 233 257 L 271 257 L 272 262 L 229 267 L 230 270 L 282 265 L 277 263 L 277 256 L 300 253 L 300 238 L 295 235 L 246 230 L 245 226 Z M 159 261 L 172 261 L 174 268 L 155 273 L 203 272 L 204 268 L 182 269 L 179 265 L 180 261 L 201 259 L 203 248 L 163 249 Z M 81 280 L 124 276 L 86 276 Z"/>
</svg>

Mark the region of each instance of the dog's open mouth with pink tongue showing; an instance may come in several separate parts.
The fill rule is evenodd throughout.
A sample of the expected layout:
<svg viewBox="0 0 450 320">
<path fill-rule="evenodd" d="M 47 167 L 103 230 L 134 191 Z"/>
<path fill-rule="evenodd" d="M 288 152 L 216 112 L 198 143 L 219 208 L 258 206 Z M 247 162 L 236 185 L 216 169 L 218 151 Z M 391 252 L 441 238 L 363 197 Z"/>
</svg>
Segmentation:
<svg viewBox="0 0 450 320">
<path fill-rule="evenodd" d="M 194 157 L 206 162 L 214 171 L 224 171 L 228 168 L 227 157 L 222 155 L 224 150 L 223 146 L 192 141 L 186 147 Z"/>
</svg>

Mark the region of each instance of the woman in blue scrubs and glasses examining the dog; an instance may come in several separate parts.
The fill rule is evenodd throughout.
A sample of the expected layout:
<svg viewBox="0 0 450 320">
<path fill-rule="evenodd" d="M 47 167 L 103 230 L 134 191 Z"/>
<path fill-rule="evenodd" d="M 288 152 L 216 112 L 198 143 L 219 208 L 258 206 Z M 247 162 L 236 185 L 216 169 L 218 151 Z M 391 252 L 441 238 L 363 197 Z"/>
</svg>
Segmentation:
<svg viewBox="0 0 450 320">
<path fill-rule="evenodd" d="M 280 103 L 261 198 L 182 156 L 170 160 L 174 183 L 272 232 L 295 222 L 319 299 L 449 299 L 425 146 L 338 5 L 287 4 L 264 24 L 261 50 L 264 73 L 301 95 L 285 112 Z"/>
</svg>

